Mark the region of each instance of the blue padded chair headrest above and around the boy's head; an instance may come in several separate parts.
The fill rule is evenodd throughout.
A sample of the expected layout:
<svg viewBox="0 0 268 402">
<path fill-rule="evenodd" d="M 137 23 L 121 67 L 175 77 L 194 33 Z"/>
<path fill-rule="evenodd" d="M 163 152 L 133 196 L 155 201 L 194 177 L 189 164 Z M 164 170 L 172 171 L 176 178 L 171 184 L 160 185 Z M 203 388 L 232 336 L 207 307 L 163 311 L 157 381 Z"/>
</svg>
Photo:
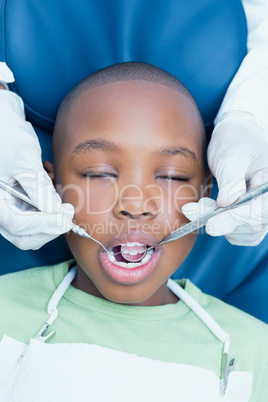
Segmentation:
<svg viewBox="0 0 268 402">
<path fill-rule="evenodd" d="M 123 61 L 179 78 L 206 124 L 246 54 L 240 0 L 0 0 L 0 60 L 28 119 L 51 132 L 66 93 L 93 71 Z"/>
</svg>

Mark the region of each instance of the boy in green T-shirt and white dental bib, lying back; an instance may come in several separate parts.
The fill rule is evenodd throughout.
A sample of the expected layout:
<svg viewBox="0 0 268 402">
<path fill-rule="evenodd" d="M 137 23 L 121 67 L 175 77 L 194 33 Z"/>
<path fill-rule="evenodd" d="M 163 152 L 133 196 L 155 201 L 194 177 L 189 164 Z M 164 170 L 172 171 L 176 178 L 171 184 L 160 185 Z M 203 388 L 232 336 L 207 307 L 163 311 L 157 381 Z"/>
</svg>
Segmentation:
<svg viewBox="0 0 268 402">
<path fill-rule="evenodd" d="M 266 325 L 188 280 L 186 295 L 167 286 L 196 233 L 158 243 L 187 222 L 182 205 L 207 193 L 204 144 L 191 95 L 153 66 L 111 66 L 67 95 L 45 166 L 109 252 L 70 232 L 75 262 L 1 278 L 6 400 L 267 399 Z"/>
</svg>

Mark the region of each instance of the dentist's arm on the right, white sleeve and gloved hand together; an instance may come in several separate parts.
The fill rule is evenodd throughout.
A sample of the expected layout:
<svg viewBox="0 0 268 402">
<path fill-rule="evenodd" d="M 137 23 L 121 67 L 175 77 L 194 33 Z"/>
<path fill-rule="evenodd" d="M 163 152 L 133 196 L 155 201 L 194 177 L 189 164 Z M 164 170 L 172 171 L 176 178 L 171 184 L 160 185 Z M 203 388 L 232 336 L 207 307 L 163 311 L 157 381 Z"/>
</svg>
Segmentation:
<svg viewBox="0 0 268 402">
<path fill-rule="evenodd" d="M 219 186 L 217 204 L 201 199 L 185 205 L 191 220 L 268 182 L 268 2 L 242 3 L 248 53 L 225 95 L 208 147 L 208 164 Z M 207 232 L 225 235 L 231 244 L 259 244 L 268 232 L 268 195 L 209 220 Z"/>
</svg>

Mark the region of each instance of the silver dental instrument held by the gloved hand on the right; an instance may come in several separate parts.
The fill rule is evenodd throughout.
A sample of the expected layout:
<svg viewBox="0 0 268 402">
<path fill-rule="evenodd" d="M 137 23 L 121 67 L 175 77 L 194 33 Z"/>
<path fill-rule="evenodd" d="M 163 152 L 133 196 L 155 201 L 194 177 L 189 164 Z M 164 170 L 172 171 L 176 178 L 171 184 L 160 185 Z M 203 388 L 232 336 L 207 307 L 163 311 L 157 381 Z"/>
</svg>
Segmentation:
<svg viewBox="0 0 268 402">
<path fill-rule="evenodd" d="M 202 226 L 205 226 L 205 224 L 207 223 L 207 221 L 210 218 L 213 218 L 214 216 L 221 214 L 222 212 L 235 209 L 235 208 L 239 207 L 240 205 L 243 205 L 245 202 L 250 201 L 253 198 L 259 197 L 260 195 L 266 193 L 267 191 L 268 191 L 268 183 L 265 183 L 259 187 L 253 188 L 252 190 L 249 190 L 246 194 L 244 194 L 240 198 L 238 198 L 238 200 L 236 202 L 234 202 L 232 205 L 229 205 L 228 207 L 224 207 L 224 208 L 217 208 L 217 209 L 215 209 L 215 211 L 201 217 L 200 219 L 187 223 L 186 225 L 182 226 L 181 228 L 174 230 L 168 236 L 164 237 L 164 239 L 161 240 L 158 243 L 158 245 L 168 243 L 170 241 L 178 240 L 181 237 L 188 235 L 189 233 L 195 232 L 197 229 L 200 229 Z M 147 251 L 148 250 L 149 249 L 147 249 Z"/>
</svg>

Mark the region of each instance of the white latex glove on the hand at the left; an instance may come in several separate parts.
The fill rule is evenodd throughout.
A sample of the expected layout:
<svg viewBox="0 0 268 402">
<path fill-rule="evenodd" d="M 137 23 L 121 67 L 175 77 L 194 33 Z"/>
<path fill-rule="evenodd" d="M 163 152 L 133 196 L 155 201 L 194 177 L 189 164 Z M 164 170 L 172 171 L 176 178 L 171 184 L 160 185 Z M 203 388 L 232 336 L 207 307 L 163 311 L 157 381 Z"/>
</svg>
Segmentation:
<svg viewBox="0 0 268 402">
<path fill-rule="evenodd" d="M 10 73 L 0 63 L 0 81 L 13 81 Z M 25 121 L 21 98 L 5 89 L 0 90 L 0 179 L 18 182 L 39 209 L 0 189 L 0 234 L 17 247 L 36 250 L 74 226 L 74 207 L 62 204 L 43 169 L 39 141 Z"/>
</svg>

